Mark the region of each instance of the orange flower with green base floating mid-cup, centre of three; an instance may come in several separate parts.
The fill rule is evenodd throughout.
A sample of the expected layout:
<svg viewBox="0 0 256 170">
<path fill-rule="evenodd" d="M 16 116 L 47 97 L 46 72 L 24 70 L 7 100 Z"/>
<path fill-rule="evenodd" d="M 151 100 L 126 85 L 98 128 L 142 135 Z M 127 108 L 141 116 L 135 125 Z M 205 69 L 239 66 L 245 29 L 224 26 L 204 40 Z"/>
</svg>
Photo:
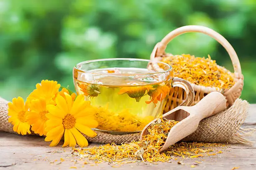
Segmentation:
<svg viewBox="0 0 256 170">
<path fill-rule="evenodd" d="M 141 100 L 141 97 L 145 95 L 146 90 L 154 90 L 154 87 L 152 87 L 151 85 L 122 87 L 118 94 L 122 95 L 124 93 L 127 93 L 129 97 L 135 98 L 136 102 L 139 102 Z"/>
</svg>

